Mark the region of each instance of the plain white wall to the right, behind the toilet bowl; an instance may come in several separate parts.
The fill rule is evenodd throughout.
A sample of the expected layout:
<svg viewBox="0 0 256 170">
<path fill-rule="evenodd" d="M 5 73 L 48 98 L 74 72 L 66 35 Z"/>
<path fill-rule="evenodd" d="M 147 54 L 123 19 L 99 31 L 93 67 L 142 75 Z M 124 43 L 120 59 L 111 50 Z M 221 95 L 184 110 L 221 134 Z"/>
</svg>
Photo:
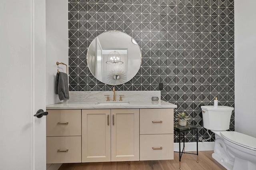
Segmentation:
<svg viewBox="0 0 256 170">
<path fill-rule="evenodd" d="M 235 130 L 256 137 L 256 0 L 235 0 Z"/>
</svg>

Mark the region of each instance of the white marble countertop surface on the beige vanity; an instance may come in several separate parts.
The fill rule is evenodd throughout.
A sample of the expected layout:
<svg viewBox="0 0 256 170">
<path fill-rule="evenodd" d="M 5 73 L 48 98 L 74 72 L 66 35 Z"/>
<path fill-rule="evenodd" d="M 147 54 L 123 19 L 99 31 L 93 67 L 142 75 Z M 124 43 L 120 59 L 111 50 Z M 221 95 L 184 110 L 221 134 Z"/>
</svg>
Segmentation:
<svg viewBox="0 0 256 170">
<path fill-rule="evenodd" d="M 105 102 L 105 101 L 99 101 Z M 112 101 L 110 101 L 112 102 Z M 115 104 L 98 105 L 98 102 L 60 102 L 52 105 L 47 105 L 46 109 L 147 109 L 147 108 L 177 108 L 177 105 L 168 103 L 166 101 L 146 101 L 146 102 L 132 102 L 126 105 Z"/>
</svg>

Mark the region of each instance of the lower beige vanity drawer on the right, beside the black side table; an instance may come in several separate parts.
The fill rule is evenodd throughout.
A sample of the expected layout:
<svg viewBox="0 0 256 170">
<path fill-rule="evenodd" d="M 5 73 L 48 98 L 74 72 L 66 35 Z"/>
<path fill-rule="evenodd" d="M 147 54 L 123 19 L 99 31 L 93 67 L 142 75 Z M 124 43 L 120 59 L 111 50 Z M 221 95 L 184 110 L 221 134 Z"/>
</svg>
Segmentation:
<svg viewBox="0 0 256 170">
<path fill-rule="evenodd" d="M 140 160 L 171 160 L 173 156 L 173 134 L 140 135 Z"/>
</svg>

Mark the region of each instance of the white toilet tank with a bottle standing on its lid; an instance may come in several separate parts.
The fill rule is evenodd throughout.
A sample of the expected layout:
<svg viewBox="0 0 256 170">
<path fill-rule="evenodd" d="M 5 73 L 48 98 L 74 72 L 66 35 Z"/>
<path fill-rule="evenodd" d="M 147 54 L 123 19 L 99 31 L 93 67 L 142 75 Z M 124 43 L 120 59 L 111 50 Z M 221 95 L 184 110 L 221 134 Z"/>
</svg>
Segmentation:
<svg viewBox="0 0 256 170">
<path fill-rule="evenodd" d="M 228 130 L 233 107 L 201 106 L 204 128 L 209 130 Z"/>
</svg>

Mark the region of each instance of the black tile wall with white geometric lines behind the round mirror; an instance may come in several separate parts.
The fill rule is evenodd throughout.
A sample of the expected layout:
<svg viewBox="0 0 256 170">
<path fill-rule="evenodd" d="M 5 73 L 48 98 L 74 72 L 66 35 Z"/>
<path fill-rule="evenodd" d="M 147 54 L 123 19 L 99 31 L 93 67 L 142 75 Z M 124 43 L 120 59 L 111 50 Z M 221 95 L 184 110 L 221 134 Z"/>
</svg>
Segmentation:
<svg viewBox="0 0 256 170">
<path fill-rule="evenodd" d="M 164 83 L 162 100 L 178 105 L 175 115 L 190 115 L 204 138 L 200 106 L 218 97 L 234 107 L 234 0 L 70 0 L 68 23 L 70 91 L 111 90 L 90 73 L 86 53 L 96 36 L 118 30 L 142 49 L 138 74 L 118 90 L 158 90 Z M 187 133 L 186 142 L 194 136 Z"/>
</svg>

